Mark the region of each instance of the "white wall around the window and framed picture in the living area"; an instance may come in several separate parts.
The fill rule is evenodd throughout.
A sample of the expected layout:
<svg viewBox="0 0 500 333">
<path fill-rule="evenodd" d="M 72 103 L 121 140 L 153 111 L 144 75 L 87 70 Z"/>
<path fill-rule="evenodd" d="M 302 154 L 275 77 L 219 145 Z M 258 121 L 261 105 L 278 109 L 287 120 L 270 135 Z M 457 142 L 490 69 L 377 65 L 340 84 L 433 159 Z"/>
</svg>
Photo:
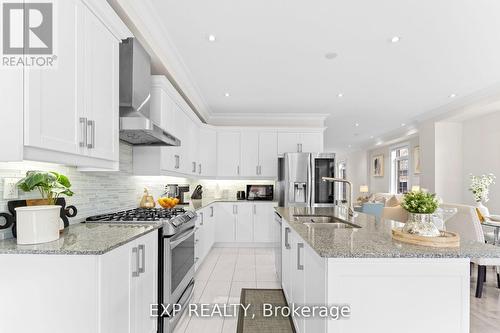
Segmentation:
<svg viewBox="0 0 500 333">
<path fill-rule="evenodd" d="M 396 143 L 392 143 L 390 145 L 380 146 L 375 149 L 368 151 L 368 179 L 369 179 L 369 189 L 370 193 L 388 193 L 391 190 L 391 151 L 396 147 L 408 145 L 409 146 L 409 186 L 419 185 L 420 184 L 420 175 L 415 174 L 413 172 L 413 150 L 416 146 L 418 146 L 419 137 L 415 136 L 409 138 L 408 140 L 401 140 Z M 374 156 L 384 155 L 384 176 L 383 177 L 374 177 L 372 176 L 372 159 Z"/>
</svg>

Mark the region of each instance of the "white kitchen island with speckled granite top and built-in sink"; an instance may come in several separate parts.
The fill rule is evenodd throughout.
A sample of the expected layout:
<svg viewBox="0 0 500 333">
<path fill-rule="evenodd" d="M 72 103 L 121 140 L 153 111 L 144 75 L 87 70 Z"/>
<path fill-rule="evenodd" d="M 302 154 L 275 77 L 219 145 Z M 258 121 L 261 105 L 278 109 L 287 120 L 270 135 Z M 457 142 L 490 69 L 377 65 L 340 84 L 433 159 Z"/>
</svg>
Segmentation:
<svg viewBox="0 0 500 333">
<path fill-rule="evenodd" d="M 500 248 L 462 241 L 454 249 L 392 240 L 401 223 L 334 208 L 275 208 L 282 217 L 282 286 L 289 304 L 348 305 L 340 320 L 293 318 L 304 332 L 469 332 L 470 258 Z M 307 223 L 323 215 L 353 224 Z"/>
</svg>

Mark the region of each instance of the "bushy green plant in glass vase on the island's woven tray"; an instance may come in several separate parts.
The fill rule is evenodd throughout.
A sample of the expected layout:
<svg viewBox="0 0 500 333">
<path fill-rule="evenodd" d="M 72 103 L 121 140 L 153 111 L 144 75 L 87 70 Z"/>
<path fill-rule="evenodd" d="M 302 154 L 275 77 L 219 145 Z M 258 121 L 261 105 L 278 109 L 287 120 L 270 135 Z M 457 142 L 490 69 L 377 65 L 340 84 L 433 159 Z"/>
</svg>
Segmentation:
<svg viewBox="0 0 500 333">
<path fill-rule="evenodd" d="M 440 232 L 432 222 L 438 206 L 435 193 L 422 191 L 406 193 L 401 202 L 401 207 L 408 211 L 408 221 L 403 227 L 403 232 L 426 237 L 439 236 Z"/>
</svg>

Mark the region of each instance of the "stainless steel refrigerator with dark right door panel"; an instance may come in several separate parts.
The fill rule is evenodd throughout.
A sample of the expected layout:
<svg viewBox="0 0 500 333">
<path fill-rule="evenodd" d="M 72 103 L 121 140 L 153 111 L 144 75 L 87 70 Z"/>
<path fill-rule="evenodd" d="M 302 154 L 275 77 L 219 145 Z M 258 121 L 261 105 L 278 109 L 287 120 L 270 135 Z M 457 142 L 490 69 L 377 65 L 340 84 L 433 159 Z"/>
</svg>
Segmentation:
<svg viewBox="0 0 500 333">
<path fill-rule="evenodd" d="M 278 160 L 278 202 L 281 207 L 329 207 L 335 202 L 335 154 L 285 153 Z"/>
</svg>

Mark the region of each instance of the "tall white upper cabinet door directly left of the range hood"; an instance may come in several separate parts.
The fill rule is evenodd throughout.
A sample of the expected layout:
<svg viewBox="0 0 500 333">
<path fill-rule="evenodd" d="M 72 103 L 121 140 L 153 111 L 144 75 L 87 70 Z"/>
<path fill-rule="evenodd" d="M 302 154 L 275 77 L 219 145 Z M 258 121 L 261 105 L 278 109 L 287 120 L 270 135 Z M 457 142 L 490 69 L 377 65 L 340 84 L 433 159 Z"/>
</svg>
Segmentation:
<svg viewBox="0 0 500 333">
<path fill-rule="evenodd" d="M 119 41 L 89 10 L 85 15 L 85 109 L 90 156 L 119 159 Z"/>
</svg>

